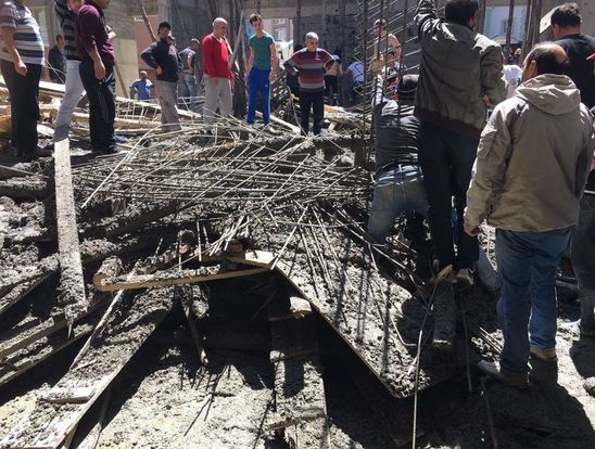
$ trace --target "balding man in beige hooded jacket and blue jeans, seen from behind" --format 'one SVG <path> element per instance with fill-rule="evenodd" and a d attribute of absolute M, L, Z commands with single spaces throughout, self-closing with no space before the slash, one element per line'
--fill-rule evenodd
<path fill-rule="evenodd" d="M 485 218 L 497 228 L 502 283 L 501 367 L 479 368 L 519 387 L 527 386 L 529 354 L 556 360 L 556 269 L 595 149 L 593 117 L 562 75 L 566 59 L 557 44 L 531 50 L 516 97 L 496 107 L 483 130 L 467 193 L 465 231 L 477 235 Z"/>

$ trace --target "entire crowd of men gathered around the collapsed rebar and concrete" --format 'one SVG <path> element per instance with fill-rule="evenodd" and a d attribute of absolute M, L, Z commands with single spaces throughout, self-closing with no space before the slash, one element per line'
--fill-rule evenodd
<path fill-rule="evenodd" d="M 55 0 L 62 26 L 52 48 L 50 76 L 65 82 L 55 139 L 67 137 L 73 111 L 84 91 L 90 110 L 93 151 L 116 153 L 114 138 L 114 33 L 105 23 L 110 0 Z M 419 76 L 401 76 L 401 43 L 385 21 L 374 26 L 376 79 L 372 99 L 376 189 L 368 233 L 383 244 L 396 217 L 405 213 L 414 246 L 433 257 L 432 282 L 450 285 L 483 281 L 488 259 L 478 233 L 484 221 L 496 228 L 499 288 L 497 316 L 504 333 L 499 364 L 480 369 L 508 384 L 528 384 L 528 361 L 556 360 L 556 270 L 571 246 L 581 291 L 581 336 L 595 336 L 595 39 L 581 33 L 575 3 L 550 16 L 555 41 L 539 43 L 511 63 L 501 46 L 477 33 L 477 0 L 447 0 L 440 18 L 432 0 L 418 0 L 415 21 L 421 44 Z M 246 63 L 248 125 L 270 127 L 270 86 L 279 59 L 259 14 L 250 16 L 254 34 Z M 45 65 L 39 26 L 23 0 L 0 8 L 0 68 L 12 106 L 12 145 L 24 159 L 35 157 L 39 118 L 38 86 Z M 232 112 L 235 75 L 227 22 L 213 21 L 202 40 L 178 52 L 172 26 L 162 22 L 157 39 L 141 53 L 155 70 L 130 85 L 139 100 L 156 98 L 163 128 L 180 129 L 178 95 L 195 110 L 204 89 L 204 121 Z M 337 104 L 339 80 L 349 74 L 352 100 L 365 80 L 364 64 L 343 72 L 340 51 L 319 48 L 311 31 L 283 62 L 287 84 L 299 97 L 302 133 L 319 134 L 325 102 Z M 518 66 L 521 64 L 522 66 Z M 395 94 L 384 94 L 389 81 Z M 591 110 L 591 112 L 590 112 Z M 427 219 L 431 243 L 419 227 Z M 570 244 L 571 242 L 571 244 Z M 489 270 L 488 270 L 489 271 Z M 494 284 L 494 283 L 493 283 Z"/>

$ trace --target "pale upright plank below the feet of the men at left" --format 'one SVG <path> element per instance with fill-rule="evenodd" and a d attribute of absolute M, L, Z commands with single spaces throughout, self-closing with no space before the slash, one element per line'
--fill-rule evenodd
<path fill-rule="evenodd" d="M 61 300 L 66 305 L 66 319 L 72 323 L 76 317 L 85 312 L 88 304 L 76 224 L 71 146 L 67 139 L 54 143 L 54 171 Z"/>

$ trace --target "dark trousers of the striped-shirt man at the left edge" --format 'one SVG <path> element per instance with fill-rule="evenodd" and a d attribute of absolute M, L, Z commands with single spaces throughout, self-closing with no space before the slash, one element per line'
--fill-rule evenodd
<path fill-rule="evenodd" d="M 11 97 L 12 146 L 20 155 L 33 153 L 37 147 L 41 65 L 27 64 L 25 76 L 18 75 L 14 64 L 8 61 L 0 62 L 0 69 Z"/>

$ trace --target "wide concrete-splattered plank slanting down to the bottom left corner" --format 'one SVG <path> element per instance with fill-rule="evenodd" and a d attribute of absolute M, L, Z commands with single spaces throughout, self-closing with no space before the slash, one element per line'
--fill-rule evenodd
<path fill-rule="evenodd" d="M 28 421 L 0 440 L 0 447 L 58 448 L 172 310 L 178 295 L 173 287 L 154 288 L 121 303 L 121 312 L 111 315 L 90 349 L 51 390 L 84 385 L 93 388 L 93 396 L 84 403 L 39 401 Z"/>

